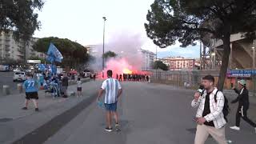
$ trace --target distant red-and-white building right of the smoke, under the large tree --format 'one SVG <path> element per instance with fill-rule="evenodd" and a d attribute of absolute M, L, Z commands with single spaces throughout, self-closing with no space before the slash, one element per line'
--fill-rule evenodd
<path fill-rule="evenodd" d="M 198 63 L 194 58 L 165 57 L 159 60 L 165 63 L 169 70 L 194 70 L 197 65 L 200 65 L 200 61 Z"/>

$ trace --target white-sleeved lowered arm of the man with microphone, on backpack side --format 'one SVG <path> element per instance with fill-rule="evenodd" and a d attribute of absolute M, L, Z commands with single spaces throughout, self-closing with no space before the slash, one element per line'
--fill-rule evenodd
<path fill-rule="evenodd" d="M 217 97 L 216 109 L 214 109 L 214 111 L 211 112 L 210 114 L 207 114 L 206 116 L 204 116 L 207 122 L 213 121 L 214 118 L 217 118 L 218 115 L 222 113 L 224 103 L 225 103 L 224 95 L 222 94 L 221 91 L 219 91 L 216 97 Z"/>

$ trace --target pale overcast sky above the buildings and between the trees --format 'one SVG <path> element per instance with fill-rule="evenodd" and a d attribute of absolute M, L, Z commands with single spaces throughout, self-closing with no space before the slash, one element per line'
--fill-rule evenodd
<path fill-rule="evenodd" d="M 69 38 L 83 46 L 102 44 L 103 19 L 106 17 L 106 43 L 122 35 L 139 35 L 142 49 L 155 52 L 156 46 L 147 38 L 144 23 L 154 0 L 45 0 L 38 11 L 41 29 L 34 37 Z M 158 58 L 182 56 L 199 58 L 199 46 L 158 48 Z"/>

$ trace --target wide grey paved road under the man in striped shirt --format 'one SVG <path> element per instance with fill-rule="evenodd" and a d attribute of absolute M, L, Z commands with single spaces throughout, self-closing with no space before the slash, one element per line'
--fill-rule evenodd
<path fill-rule="evenodd" d="M 122 132 L 107 133 L 104 111 L 95 103 L 63 126 L 45 144 L 188 144 L 194 142 L 196 110 L 190 107 L 193 91 L 176 90 L 171 86 L 142 82 L 122 82 L 124 94 L 118 102 Z M 235 106 L 232 105 L 234 110 Z M 249 115 L 255 115 L 251 106 Z M 256 122 L 256 118 L 254 122 Z M 234 112 L 230 114 L 234 124 Z M 226 137 L 235 144 L 256 141 L 254 130 L 242 122 L 240 132 L 226 128 Z M 206 144 L 214 144 L 209 138 Z"/>

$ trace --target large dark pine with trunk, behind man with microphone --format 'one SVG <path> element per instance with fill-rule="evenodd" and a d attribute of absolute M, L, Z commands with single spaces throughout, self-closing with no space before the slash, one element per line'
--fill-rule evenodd
<path fill-rule="evenodd" d="M 177 40 L 183 47 L 195 45 L 203 36 L 223 42 L 218 89 L 222 90 L 230 56 L 230 34 L 246 32 L 254 38 L 256 30 L 254 0 L 155 0 L 146 16 L 146 33 L 162 48 Z"/>

